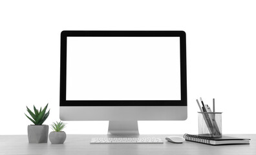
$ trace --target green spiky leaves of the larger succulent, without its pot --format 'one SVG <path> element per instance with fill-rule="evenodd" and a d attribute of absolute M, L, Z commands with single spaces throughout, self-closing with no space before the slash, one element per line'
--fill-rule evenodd
<path fill-rule="evenodd" d="M 42 125 L 43 122 L 48 118 L 49 114 L 50 114 L 50 109 L 48 110 L 48 112 L 46 112 L 48 107 L 48 103 L 45 106 L 45 108 L 40 108 L 40 110 L 38 111 L 37 108 L 34 106 L 34 112 L 32 112 L 28 107 L 27 107 L 27 111 L 30 114 L 30 117 L 27 116 L 27 114 L 25 114 L 27 116 L 27 118 L 32 121 L 35 125 Z M 46 112 L 46 113 L 45 113 Z"/>

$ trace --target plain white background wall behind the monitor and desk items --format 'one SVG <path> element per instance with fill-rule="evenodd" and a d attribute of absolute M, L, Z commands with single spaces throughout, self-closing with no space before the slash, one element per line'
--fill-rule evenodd
<path fill-rule="evenodd" d="M 26 105 L 59 119 L 62 30 L 184 30 L 186 121 L 140 121 L 141 134 L 196 134 L 197 103 L 216 98 L 224 134 L 256 132 L 255 1 L 1 1 L 0 134 L 27 134 Z M 67 122 L 67 134 L 106 134 L 107 121 Z"/>

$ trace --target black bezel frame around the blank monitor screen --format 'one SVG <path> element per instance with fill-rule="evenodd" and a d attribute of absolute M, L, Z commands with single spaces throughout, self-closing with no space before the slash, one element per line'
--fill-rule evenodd
<path fill-rule="evenodd" d="M 67 37 L 180 37 L 181 100 L 66 100 Z M 59 106 L 187 106 L 186 32 L 184 31 L 76 31 L 61 32 Z"/>

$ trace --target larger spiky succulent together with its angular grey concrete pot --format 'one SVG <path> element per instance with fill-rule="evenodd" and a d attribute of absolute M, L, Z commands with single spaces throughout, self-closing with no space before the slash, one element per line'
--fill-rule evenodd
<path fill-rule="evenodd" d="M 40 108 L 38 111 L 34 106 L 34 112 L 27 107 L 27 111 L 32 118 L 28 117 L 27 114 L 25 115 L 34 123 L 34 125 L 28 125 L 28 143 L 47 143 L 49 127 L 48 125 L 42 125 L 50 114 L 50 110 L 46 112 L 47 107 L 48 103 L 43 110 Z"/>

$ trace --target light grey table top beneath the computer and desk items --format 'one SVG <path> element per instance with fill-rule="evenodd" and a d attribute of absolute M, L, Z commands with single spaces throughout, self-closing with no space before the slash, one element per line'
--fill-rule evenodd
<path fill-rule="evenodd" d="M 68 134 L 64 144 L 28 143 L 27 135 L 0 136 L 0 154 L 256 154 L 256 134 L 233 134 L 237 138 L 250 138 L 250 145 L 220 145 L 185 141 L 175 144 L 165 141 L 170 135 L 140 135 L 164 140 L 164 144 L 90 144 L 91 138 L 107 135 Z M 172 135 L 182 136 L 182 135 Z"/>

